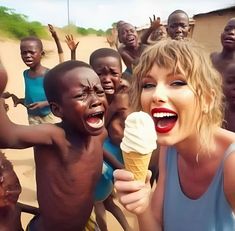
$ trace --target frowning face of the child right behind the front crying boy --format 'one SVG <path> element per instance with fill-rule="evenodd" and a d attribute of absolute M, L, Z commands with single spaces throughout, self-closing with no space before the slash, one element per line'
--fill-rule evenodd
<path fill-rule="evenodd" d="M 94 60 L 93 69 L 100 77 L 105 94 L 114 95 L 121 78 L 121 63 L 116 57 L 101 57 Z"/>

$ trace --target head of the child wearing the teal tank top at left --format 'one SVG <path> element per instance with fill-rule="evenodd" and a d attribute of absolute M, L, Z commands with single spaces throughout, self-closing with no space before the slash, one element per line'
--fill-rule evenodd
<path fill-rule="evenodd" d="M 34 68 L 41 63 L 41 58 L 45 54 L 42 41 L 34 36 L 21 39 L 20 53 L 23 62 L 28 67 Z"/>

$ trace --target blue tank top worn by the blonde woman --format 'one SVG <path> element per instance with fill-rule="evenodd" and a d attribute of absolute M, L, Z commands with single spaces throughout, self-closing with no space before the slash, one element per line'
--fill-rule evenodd
<path fill-rule="evenodd" d="M 224 159 L 235 150 L 231 144 Z M 223 190 L 223 163 L 210 183 L 207 191 L 192 200 L 181 190 L 177 169 L 177 153 L 171 147 L 166 157 L 166 183 L 163 207 L 164 231 L 232 231 L 235 217 Z"/>

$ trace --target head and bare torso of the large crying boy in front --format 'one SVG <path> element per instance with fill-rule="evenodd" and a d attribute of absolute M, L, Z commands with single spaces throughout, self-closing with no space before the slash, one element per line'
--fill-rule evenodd
<path fill-rule="evenodd" d="M 39 219 L 32 230 L 84 230 L 101 176 L 104 114 L 107 101 L 100 79 L 90 66 L 67 61 L 51 69 L 44 80 L 53 114 L 71 143 L 64 161 L 51 146 L 35 147 Z M 95 228 L 93 229 L 95 230 Z"/>

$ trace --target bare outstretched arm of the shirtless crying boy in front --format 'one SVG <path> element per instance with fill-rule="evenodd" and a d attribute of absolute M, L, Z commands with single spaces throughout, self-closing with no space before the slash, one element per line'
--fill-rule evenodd
<path fill-rule="evenodd" d="M 62 155 L 66 155 L 69 142 L 64 131 L 53 124 L 18 125 L 7 116 L 3 100 L 0 99 L 0 148 L 22 149 L 34 145 L 55 144 Z"/>

